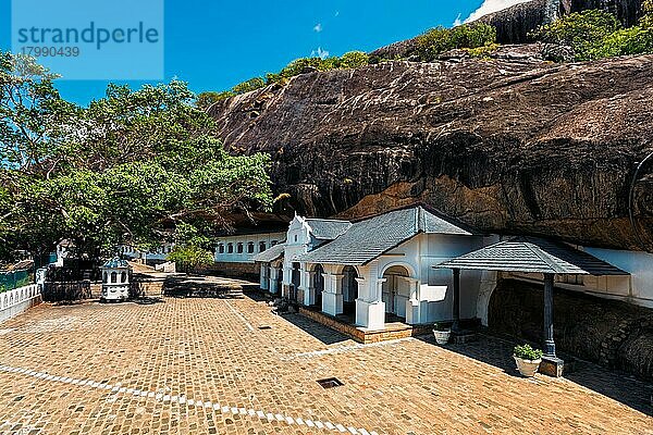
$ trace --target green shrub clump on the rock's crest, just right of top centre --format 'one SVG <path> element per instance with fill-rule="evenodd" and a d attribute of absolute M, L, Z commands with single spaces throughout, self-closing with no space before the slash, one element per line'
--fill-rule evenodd
<path fill-rule="evenodd" d="M 454 28 L 435 27 L 417 37 L 417 55 L 430 62 L 439 54 L 456 49 L 476 49 L 496 42 L 496 28 L 489 24 L 466 24 Z"/>

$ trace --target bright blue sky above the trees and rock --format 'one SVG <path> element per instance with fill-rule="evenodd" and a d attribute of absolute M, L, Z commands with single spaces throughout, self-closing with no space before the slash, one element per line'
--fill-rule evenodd
<path fill-rule="evenodd" d="M 26 0 L 13 1 L 24 5 Z M 57 14 L 74 16 L 73 11 L 78 11 L 78 8 L 65 4 L 74 0 L 29 1 L 47 3 L 50 9 L 42 9 L 45 12 L 41 14 L 46 17 Z M 107 8 L 114 8 L 113 12 L 125 20 L 139 20 L 143 11 L 121 7 L 116 1 L 86 0 L 84 4 L 95 9 L 91 11 L 94 16 L 110 15 Z M 139 1 L 143 0 L 132 0 L 133 3 Z M 152 1 L 164 1 L 160 35 L 161 77 L 153 80 L 104 79 L 116 73 L 98 64 L 96 66 L 107 72 L 109 77 L 79 80 L 65 79 L 64 75 L 57 82 L 64 98 L 87 104 L 104 95 L 109 82 L 126 83 L 138 88 L 144 83 L 169 82 L 172 78 L 187 82 L 196 92 L 225 90 L 250 77 L 276 72 L 297 58 L 341 55 L 352 50 L 371 51 L 414 37 L 428 28 L 438 25 L 451 27 L 470 16 L 480 16 L 525 0 Z M 17 9 L 14 7 L 14 12 Z M 41 11 L 41 8 L 32 5 L 26 10 Z M 12 29 L 11 18 L 12 0 L 0 0 L 2 50 L 11 50 L 12 36 L 15 37 L 16 29 Z M 131 71 L 131 65 L 138 64 L 138 60 L 143 61 L 140 54 L 130 55 L 133 58 L 115 58 L 112 66 L 126 72 Z"/>

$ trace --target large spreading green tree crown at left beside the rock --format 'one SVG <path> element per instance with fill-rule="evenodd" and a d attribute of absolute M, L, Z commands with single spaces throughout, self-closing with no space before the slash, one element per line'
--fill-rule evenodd
<path fill-rule="evenodd" d="M 230 211 L 271 203 L 269 157 L 226 153 L 186 84 L 110 85 L 81 108 L 33 60 L 2 59 L 0 257 L 63 238 L 93 257 L 183 243 L 174 228 L 210 233 Z"/>

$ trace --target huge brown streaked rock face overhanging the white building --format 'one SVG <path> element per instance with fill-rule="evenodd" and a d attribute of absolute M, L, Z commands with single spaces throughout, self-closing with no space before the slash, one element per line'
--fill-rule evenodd
<path fill-rule="evenodd" d="M 310 216 L 416 202 L 492 233 L 653 249 L 653 55 L 552 64 L 385 62 L 310 73 L 213 105 L 234 153 L 268 152 Z M 292 213 L 292 212 L 291 212 Z"/>

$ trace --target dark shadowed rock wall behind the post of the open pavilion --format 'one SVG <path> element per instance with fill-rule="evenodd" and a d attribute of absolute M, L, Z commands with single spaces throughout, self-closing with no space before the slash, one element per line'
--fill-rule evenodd
<path fill-rule="evenodd" d="M 503 279 L 492 294 L 489 326 L 541 343 L 542 286 Z M 586 294 L 554 291 L 558 351 L 653 380 L 653 310 Z"/>

